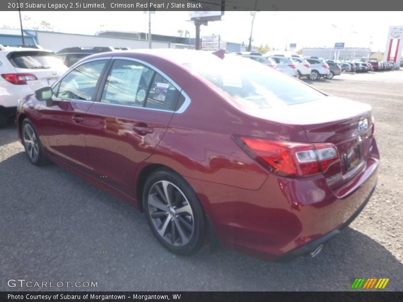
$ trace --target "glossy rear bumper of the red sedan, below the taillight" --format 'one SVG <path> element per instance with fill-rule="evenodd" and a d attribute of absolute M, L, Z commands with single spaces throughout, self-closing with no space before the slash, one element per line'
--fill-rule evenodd
<path fill-rule="evenodd" d="M 376 146 L 376 144 L 375 144 Z M 377 181 L 377 148 L 353 180 L 332 191 L 323 177 L 270 175 L 258 190 L 187 179 L 222 246 L 264 260 L 304 255 L 346 228 Z"/>

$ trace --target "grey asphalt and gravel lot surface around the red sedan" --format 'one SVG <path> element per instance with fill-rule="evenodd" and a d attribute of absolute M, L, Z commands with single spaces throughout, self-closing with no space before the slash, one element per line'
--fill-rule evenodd
<path fill-rule="evenodd" d="M 174 256 L 135 208 L 56 165 L 32 166 L 10 123 L 0 130 L 0 290 L 20 290 L 7 285 L 18 278 L 93 281 L 95 290 L 347 290 L 373 277 L 401 290 L 403 71 L 306 82 L 372 105 L 381 154 L 370 202 L 316 258 L 270 263 L 222 249 Z"/>

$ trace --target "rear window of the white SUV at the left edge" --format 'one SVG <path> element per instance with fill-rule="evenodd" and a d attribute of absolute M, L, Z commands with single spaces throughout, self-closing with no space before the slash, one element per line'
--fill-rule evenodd
<path fill-rule="evenodd" d="M 63 63 L 52 53 L 46 51 L 19 51 L 9 56 L 11 64 L 16 68 L 48 69 L 64 67 Z"/>

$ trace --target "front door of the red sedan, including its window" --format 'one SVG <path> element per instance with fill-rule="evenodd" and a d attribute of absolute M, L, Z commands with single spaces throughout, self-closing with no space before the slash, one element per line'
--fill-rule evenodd
<path fill-rule="evenodd" d="M 110 59 L 95 59 L 66 74 L 51 101 L 40 106 L 41 140 L 52 155 L 80 170 L 88 170 L 84 131 L 91 122 L 87 110 L 95 100 L 100 75 Z"/>

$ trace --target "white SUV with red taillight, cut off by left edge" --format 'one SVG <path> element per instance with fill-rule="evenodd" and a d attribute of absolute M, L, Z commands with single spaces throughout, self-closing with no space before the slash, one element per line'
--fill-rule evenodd
<path fill-rule="evenodd" d="M 17 102 L 50 86 L 68 68 L 49 50 L 0 45 L 0 127 L 17 112 Z"/>

